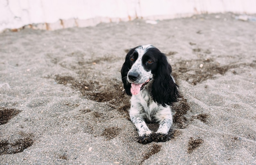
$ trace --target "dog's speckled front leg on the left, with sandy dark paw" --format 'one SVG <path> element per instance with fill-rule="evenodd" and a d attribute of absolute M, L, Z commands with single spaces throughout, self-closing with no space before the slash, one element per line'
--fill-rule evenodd
<path fill-rule="evenodd" d="M 148 129 L 148 126 L 146 125 L 144 119 L 142 118 L 140 110 L 137 108 L 133 108 L 133 106 L 131 106 L 129 114 L 132 123 L 136 126 L 138 130 L 138 142 L 143 144 L 152 142 L 152 132 L 150 131 L 150 129 Z"/>

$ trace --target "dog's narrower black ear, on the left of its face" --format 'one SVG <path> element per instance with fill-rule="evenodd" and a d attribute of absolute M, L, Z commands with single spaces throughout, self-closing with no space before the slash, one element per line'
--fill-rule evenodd
<path fill-rule="evenodd" d="M 132 96 L 132 94 L 131 94 L 131 83 L 129 83 L 127 81 L 127 74 L 128 74 L 128 71 L 132 67 L 131 64 L 130 64 L 130 55 L 134 52 L 134 50 L 135 50 L 135 48 L 130 49 L 130 51 L 126 55 L 125 62 L 124 62 L 123 67 L 121 69 L 121 76 L 122 76 L 122 81 L 123 81 L 123 84 L 124 84 L 124 89 L 126 91 L 126 94 L 128 94 L 130 96 Z"/>

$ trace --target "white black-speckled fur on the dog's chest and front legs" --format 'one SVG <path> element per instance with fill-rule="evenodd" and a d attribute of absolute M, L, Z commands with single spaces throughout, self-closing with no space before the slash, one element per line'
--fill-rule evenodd
<path fill-rule="evenodd" d="M 155 133 L 165 135 L 168 134 L 168 131 L 173 124 L 171 107 L 163 107 L 162 105 L 157 105 L 157 103 L 153 101 L 149 91 L 151 85 L 152 81 L 150 81 L 150 83 L 148 83 L 148 85 L 146 85 L 146 87 L 141 90 L 139 94 L 132 95 L 132 98 L 130 99 L 130 119 L 136 126 L 139 136 L 152 134 L 144 119 L 147 119 L 152 123 L 159 123 L 159 128 Z"/>

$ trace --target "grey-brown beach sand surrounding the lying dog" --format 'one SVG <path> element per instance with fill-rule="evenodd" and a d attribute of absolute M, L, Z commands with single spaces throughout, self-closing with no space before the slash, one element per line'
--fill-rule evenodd
<path fill-rule="evenodd" d="M 120 70 L 146 44 L 167 55 L 183 98 L 171 140 L 144 145 Z M 1 33 L 0 164 L 256 164 L 256 22 L 227 13 Z"/>

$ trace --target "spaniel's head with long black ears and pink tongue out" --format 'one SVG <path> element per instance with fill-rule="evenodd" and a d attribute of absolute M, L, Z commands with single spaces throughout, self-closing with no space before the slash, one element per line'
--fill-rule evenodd
<path fill-rule="evenodd" d="M 151 95 L 163 106 L 171 105 L 180 96 L 171 72 L 166 56 L 153 45 L 130 49 L 121 69 L 126 94 L 137 95 L 153 81 Z"/>

